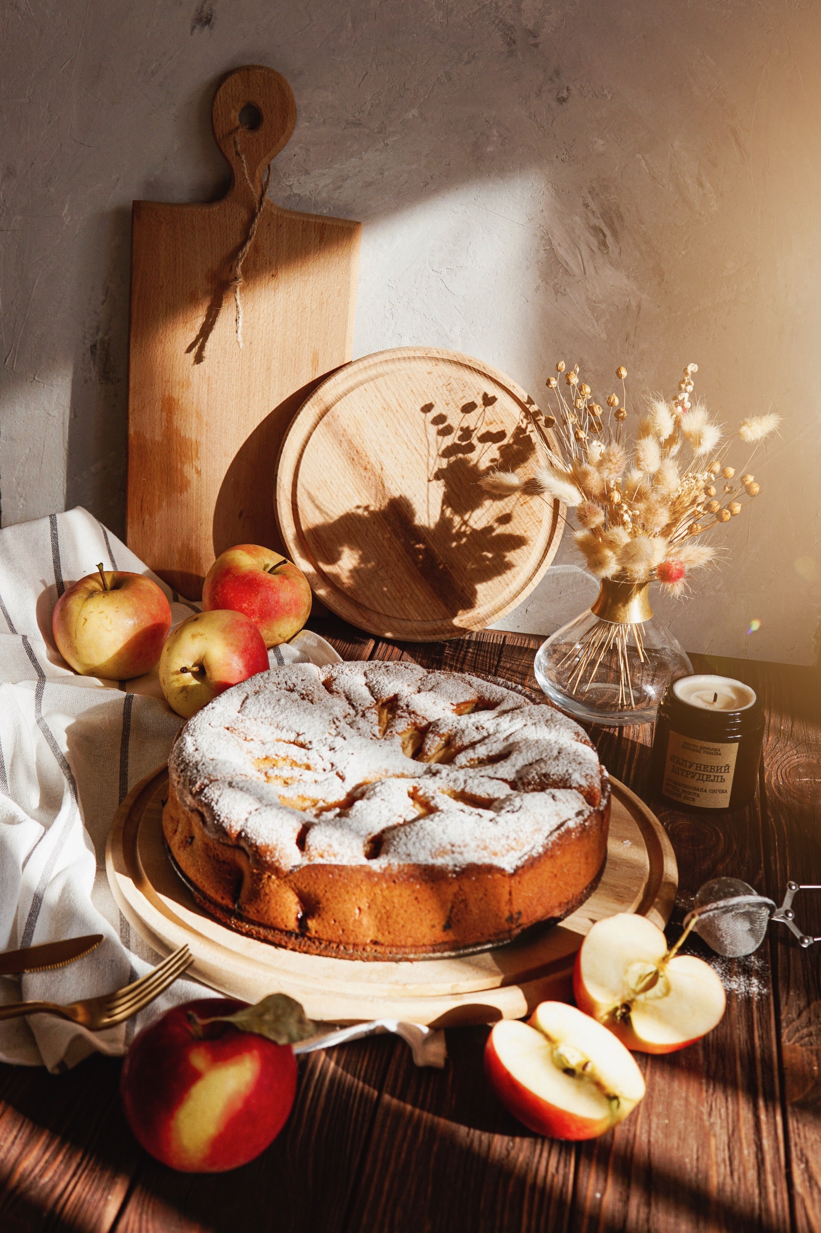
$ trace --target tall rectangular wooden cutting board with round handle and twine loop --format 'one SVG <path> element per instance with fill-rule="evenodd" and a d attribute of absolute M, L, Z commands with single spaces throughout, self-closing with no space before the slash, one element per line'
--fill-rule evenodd
<path fill-rule="evenodd" d="M 283 210 L 266 192 L 295 116 L 284 78 L 238 69 L 213 105 L 226 196 L 134 202 L 127 538 L 190 599 L 226 547 L 281 546 L 279 443 L 352 355 L 361 223 Z"/>

